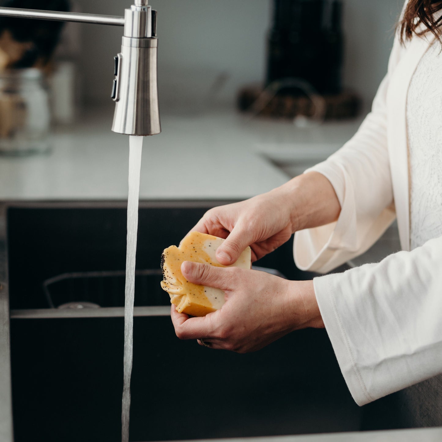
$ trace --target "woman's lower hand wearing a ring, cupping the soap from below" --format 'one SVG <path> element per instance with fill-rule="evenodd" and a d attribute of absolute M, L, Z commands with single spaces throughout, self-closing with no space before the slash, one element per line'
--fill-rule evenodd
<path fill-rule="evenodd" d="M 290 331 L 324 327 L 312 281 L 287 281 L 260 271 L 184 262 L 188 281 L 224 290 L 220 310 L 193 318 L 171 306 L 180 339 L 203 339 L 211 348 L 247 353 Z"/>

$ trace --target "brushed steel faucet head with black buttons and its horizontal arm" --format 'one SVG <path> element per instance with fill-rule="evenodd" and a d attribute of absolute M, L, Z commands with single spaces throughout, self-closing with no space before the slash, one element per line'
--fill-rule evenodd
<path fill-rule="evenodd" d="M 148 0 L 134 1 L 124 17 L 21 8 L 0 8 L 0 15 L 124 26 L 121 52 L 114 57 L 112 130 L 126 135 L 155 135 L 161 132 L 156 11 L 148 5 Z"/>

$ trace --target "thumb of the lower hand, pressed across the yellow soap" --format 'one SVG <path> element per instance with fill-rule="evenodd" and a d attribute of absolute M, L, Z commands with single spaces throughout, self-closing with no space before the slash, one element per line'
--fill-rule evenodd
<path fill-rule="evenodd" d="M 181 273 L 187 281 L 221 290 L 231 290 L 231 270 L 192 261 L 184 261 L 181 264 Z"/>

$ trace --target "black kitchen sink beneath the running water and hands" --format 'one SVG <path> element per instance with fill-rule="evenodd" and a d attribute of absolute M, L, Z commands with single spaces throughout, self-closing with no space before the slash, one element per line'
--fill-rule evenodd
<path fill-rule="evenodd" d="M 130 439 L 360 430 L 324 330 L 251 354 L 176 338 L 161 252 L 222 203 L 140 203 Z M 12 410 L 15 442 L 121 440 L 126 204 L 7 203 L 0 218 L 0 439 L 12 440 Z M 311 277 L 291 241 L 257 264 Z"/>

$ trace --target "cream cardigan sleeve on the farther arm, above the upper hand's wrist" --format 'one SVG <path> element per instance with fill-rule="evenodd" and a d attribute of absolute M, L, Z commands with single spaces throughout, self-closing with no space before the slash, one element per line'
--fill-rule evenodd
<path fill-rule="evenodd" d="M 386 95 L 402 51 L 396 38 L 389 72 L 358 132 L 328 160 L 308 170 L 320 172 L 330 181 L 341 212 L 335 223 L 296 232 L 293 252 L 301 270 L 327 273 L 361 255 L 396 216 L 387 148 Z"/>

